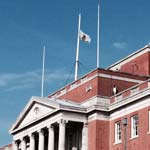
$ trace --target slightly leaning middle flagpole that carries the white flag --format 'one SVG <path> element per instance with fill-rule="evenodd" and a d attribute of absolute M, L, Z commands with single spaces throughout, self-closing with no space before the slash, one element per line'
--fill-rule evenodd
<path fill-rule="evenodd" d="M 79 40 L 80 24 L 81 24 L 81 14 L 79 14 L 79 22 L 78 22 L 77 50 L 76 50 L 76 62 L 75 62 L 75 76 L 74 76 L 74 80 L 75 81 L 78 79 L 79 45 L 80 45 L 80 40 Z"/>

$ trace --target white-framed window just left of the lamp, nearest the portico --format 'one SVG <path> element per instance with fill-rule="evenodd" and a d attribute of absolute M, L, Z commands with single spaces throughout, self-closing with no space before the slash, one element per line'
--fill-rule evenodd
<path fill-rule="evenodd" d="M 115 143 L 121 142 L 121 121 L 115 123 Z"/>

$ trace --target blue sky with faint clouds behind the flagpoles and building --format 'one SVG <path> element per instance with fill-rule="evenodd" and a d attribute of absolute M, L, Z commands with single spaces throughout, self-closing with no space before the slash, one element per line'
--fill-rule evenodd
<path fill-rule="evenodd" d="M 80 42 L 80 75 L 96 68 L 98 0 L 0 1 L 0 146 L 31 96 L 40 96 L 46 45 L 44 95 L 73 80 L 78 15 L 92 39 Z M 150 42 L 149 0 L 101 0 L 100 67 L 106 68 Z"/>

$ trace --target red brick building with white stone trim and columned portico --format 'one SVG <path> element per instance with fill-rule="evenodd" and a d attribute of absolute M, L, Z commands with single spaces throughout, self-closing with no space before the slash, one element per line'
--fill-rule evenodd
<path fill-rule="evenodd" d="M 10 129 L 14 150 L 150 150 L 150 46 L 32 97 Z"/>

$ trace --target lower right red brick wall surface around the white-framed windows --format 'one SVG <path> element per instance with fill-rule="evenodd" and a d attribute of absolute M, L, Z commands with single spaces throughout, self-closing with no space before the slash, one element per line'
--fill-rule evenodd
<path fill-rule="evenodd" d="M 123 118 L 128 119 L 127 125 L 127 150 L 150 150 L 150 134 L 148 133 L 148 111 L 150 107 L 140 109 L 126 116 L 122 116 L 110 122 L 110 150 L 124 150 L 124 126 L 122 125 L 122 142 L 115 144 L 115 122 L 122 121 Z M 138 115 L 139 117 L 139 136 L 136 138 L 131 138 L 131 117 L 133 115 Z"/>

